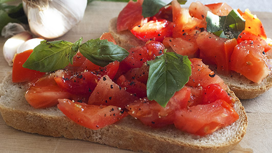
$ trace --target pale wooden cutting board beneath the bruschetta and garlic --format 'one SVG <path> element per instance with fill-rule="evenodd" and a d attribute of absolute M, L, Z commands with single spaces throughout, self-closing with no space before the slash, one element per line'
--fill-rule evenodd
<path fill-rule="evenodd" d="M 108 32 L 109 20 L 118 16 L 125 3 L 92 2 L 87 6 L 84 19 L 71 31 L 59 39 L 74 42 L 80 37 L 84 41 L 99 38 Z M 267 37 L 272 37 L 272 13 L 255 13 L 263 22 Z M 3 58 L 2 46 L 7 39 L 0 38 L 0 79 L 12 68 Z M 272 90 L 263 95 L 242 100 L 248 116 L 247 133 L 239 145 L 232 150 L 237 152 L 270 152 L 272 150 Z M 53 138 L 29 134 L 7 126 L 0 116 L 0 152 L 133 152 L 90 143 L 81 140 Z"/>

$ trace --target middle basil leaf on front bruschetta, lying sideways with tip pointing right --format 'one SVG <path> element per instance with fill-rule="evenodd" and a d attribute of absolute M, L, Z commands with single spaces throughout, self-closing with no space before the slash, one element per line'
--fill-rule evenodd
<path fill-rule="evenodd" d="M 122 61 L 128 56 L 126 49 L 107 40 L 91 39 L 80 46 L 80 53 L 99 66 L 106 66 L 110 62 Z"/>

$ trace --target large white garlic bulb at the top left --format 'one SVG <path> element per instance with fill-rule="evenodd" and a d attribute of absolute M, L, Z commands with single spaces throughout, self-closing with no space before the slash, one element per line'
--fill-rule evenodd
<path fill-rule="evenodd" d="M 67 33 L 82 20 L 87 0 L 23 0 L 31 32 L 46 39 Z"/>

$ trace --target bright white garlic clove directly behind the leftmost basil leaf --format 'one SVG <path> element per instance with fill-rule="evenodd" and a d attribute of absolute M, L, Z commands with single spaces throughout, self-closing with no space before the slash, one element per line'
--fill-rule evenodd
<path fill-rule="evenodd" d="M 17 48 L 17 54 L 25 52 L 26 50 L 33 49 L 43 41 L 43 38 L 33 38 L 25 41 Z"/>

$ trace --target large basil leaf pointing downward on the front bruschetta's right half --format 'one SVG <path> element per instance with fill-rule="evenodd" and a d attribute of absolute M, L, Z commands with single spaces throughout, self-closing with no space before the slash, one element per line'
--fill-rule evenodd
<path fill-rule="evenodd" d="M 165 107 L 174 93 L 188 82 L 191 62 L 187 56 L 167 52 L 147 63 L 150 65 L 147 97 Z"/>

